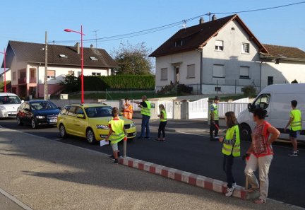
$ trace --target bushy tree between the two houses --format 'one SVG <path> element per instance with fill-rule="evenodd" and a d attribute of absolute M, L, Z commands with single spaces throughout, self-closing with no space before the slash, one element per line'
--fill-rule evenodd
<path fill-rule="evenodd" d="M 128 42 L 112 51 L 112 56 L 119 68 L 114 69 L 116 74 L 152 74 L 152 59 L 148 57 L 150 49 L 144 42 L 131 45 Z"/>

